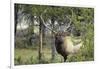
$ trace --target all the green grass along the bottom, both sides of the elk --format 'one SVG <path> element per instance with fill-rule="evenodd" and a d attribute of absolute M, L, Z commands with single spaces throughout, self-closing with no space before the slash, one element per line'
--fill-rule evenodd
<path fill-rule="evenodd" d="M 38 60 L 38 49 L 15 49 L 15 65 L 29 65 L 29 64 L 48 64 L 48 63 L 61 63 L 63 57 L 56 54 L 55 60 L 51 60 L 51 49 L 43 48 L 42 61 Z M 93 61 L 93 57 L 87 57 L 81 52 L 75 55 L 69 55 L 67 62 L 80 62 L 80 61 Z"/>

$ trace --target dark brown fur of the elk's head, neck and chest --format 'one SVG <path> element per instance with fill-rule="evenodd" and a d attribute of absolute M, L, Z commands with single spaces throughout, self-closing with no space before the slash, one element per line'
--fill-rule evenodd
<path fill-rule="evenodd" d="M 55 35 L 55 47 L 56 47 L 56 50 L 59 54 L 61 54 L 64 58 L 64 62 L 66 61 L 67 59 L 67 56 L 68 56 L 68 53 L 66 52 L 66 47 L 67 46 L 64 46 L 64 38 L 66 37 L 67 33 L 57 33 Z"/>

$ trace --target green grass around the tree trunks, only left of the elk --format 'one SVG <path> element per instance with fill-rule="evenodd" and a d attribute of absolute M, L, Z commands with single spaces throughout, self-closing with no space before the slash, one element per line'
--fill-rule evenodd
<path fill-rule="evenodd" d="M 61 56 L 56 54 L 54 61 L 51 61 L 51 50 L 49 48 L 43 48 L 43 57 L 41 63 L 58 63 L 62 62 Z M 38 61 L 38 49 L 15 49 L 15 65 L 24 65 L 24 64 L 40 64 Z"/>

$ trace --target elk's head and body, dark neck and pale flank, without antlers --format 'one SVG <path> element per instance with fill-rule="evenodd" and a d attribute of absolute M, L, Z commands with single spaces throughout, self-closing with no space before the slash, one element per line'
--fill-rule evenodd
<path fill-rule="evenodd" d="M 66 33 L 57 33 L 55 35 L 55 47 L 58 54 L 63 56 L 64 62 L 69 54 L 77 53 L 82 46 L 82 43 L 74 46 L 71 37 L 67 35 Z"/>

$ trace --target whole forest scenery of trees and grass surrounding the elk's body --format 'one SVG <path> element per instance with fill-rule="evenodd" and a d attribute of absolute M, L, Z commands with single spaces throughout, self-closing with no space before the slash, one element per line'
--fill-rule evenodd
<path fill-rule="evenodd" d="M 15 4 L 15 65 L 62 62 L 53 31 L 69 32 L 83 47 L 67 62 L 94 60 L 94 9 Z M 52 29 L 52 30 L 51 30 Z"/>

